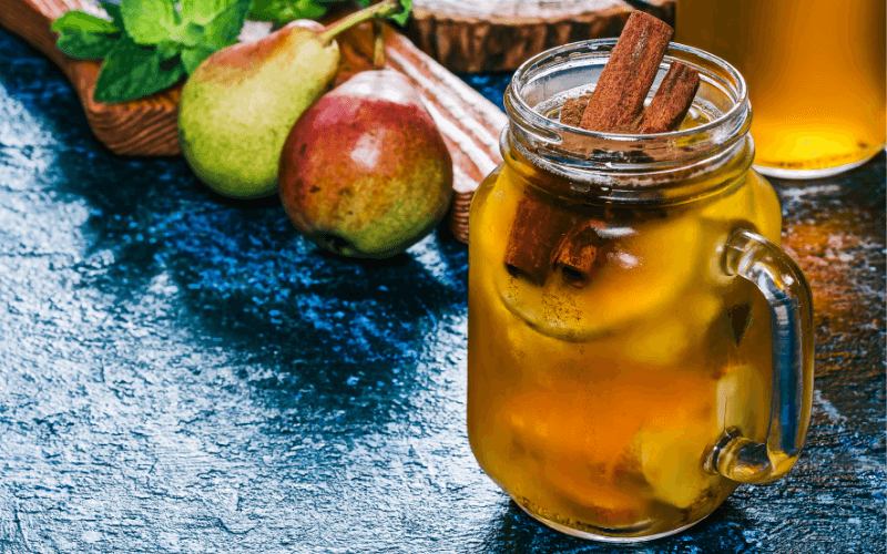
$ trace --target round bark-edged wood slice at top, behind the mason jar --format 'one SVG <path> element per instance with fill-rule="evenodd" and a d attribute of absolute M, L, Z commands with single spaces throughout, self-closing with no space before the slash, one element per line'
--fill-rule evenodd
<path fill-rule="evenodd" d="M 674 27 L 676 0 L 414 0 L 407 35 L 450 71 L 513 71 L 550 48 L 616 38 L 635 9 Z"/>

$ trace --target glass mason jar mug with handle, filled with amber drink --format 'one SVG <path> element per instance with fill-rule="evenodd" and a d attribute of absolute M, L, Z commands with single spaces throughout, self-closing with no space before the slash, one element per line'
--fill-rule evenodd
<path fill-rule="evenodd" d="M 813 321 L 777 246 L 778 199 L 751 168 L 730 64 L 670 47 L 654 90 L 674 60 L 701 74 L 671 133 L 554 121 L 614 44 L 543 52 L 506 92 L 504 163 L 470 213 L 468 435 L 533 517 L 633 542 L 791 469 L 810 417 Z"/>

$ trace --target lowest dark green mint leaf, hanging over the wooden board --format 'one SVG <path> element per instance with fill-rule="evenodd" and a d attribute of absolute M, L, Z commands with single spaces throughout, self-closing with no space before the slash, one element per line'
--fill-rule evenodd
<path fill-rule="evenodd" d="M 125 102 L 173 85 L 185 74 L 179 60 L 163 60 L 154 48 L 121 40 L 108 54 L 93 98 L 99 102 Z"/>

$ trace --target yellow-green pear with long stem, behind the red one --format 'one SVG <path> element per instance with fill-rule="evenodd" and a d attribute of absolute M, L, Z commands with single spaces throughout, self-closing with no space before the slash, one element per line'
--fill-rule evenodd
<path fill-rule="evenodd" d="M 397 10 L 397 2 L 385 1 L 329 28 L 293 21 L 206 58 L 185 82 L 179 104 L 179 142 L 197 177 L 233 198 L 275 194 L 289 129 L 336 78 L 335 37 Z"/>

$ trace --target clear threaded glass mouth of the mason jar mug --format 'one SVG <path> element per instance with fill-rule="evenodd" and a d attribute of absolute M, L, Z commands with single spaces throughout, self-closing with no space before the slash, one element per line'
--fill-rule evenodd
<path fill-rule="evenodd" d="M 702 50 L 672 43 L 660 63 L 648 94 L 652 99 L 674 61 L 700 73 L 693 109 L 705 121 L 690 129 L 653 134 L 588 131 L 547 116 L 563 100 L 590 94 L 615 47 L 616 39 L 574 42 L 527 60 L 513 74 L 504 94 L 509 126 L 503 132 L 503 156 L 517 150 L 533 165 L 572 182 L 574 192 L 591 186 L 650 189 L 679 184 L 687 175 L 707 173 L 743 158 L 751 166 L 748 136 L 752 110 L 742 74 L 726 61 Z M 747 170 L 747 167 L 746 167 Z"/>

